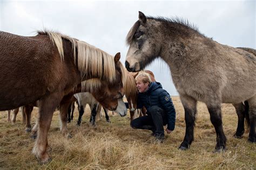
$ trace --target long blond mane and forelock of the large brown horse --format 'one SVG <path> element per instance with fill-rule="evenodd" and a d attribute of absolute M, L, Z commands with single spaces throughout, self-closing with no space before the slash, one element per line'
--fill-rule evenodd
<path fill-rule="evenodd" d="M 92 76 L 105 78 L 110 82 L 116 79 L 116 70 L 114 66 L 114 57 L 109 55 L 103 50 L 98 49 L 97 47 L 90 45 L 86 42 L 80 41 L 76 38 L 71 38 L 69 36 L 63 35 L 59 32 L 53 31 L 37 31 L 38 35 L 48 35 L 53 43 L 57 46 L 60 58 L 64 60 L 64 50 L 63 50 L 63 39 L 69 40 L 72 44 L 74 63 L 76 64 L 76 59 L 78 63 L 78 69 L 81 73 L 81 78 L 86 76 L 87 72 L 91 72 Z M 76 56 L 77 50 L 77 56 Z M 77 58 L 76 58 L 77 57 Z M 126 74 L 124 66 L 119 62 L 119 66 L 122 70 L 122 81 L 123 84 L 126 80 Z M 88 81 L 86 84 L 93 86 L 96 80 Z M 84 84 L 85 85 L 85 84 Z M 82 84 L 83 86 L 83 84 Z M 98 83 L 95 84 L 98 86 Z M 87 87 L 84 87 L 87 88 Z"/>

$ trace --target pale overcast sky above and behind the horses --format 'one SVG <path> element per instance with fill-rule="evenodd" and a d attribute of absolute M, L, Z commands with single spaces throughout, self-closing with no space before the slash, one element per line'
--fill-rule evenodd
<path fill-rule="evenodd" d="M 35 36 L 44 28 L 59 31 L 106 51 L 121 53 L 124 64 L 129 46 L 125 38 L 138 20 L 146 16 L 181 17 L 220 44 L 233 47 L 255 45 L 255 1 L 4 1 L 0 0 L 0 30 Z M 0 42 L 1 43 L 1 42 Z M 146 67 L 163 88 L 177 96 L 169 67 L 157 59 Z"/>

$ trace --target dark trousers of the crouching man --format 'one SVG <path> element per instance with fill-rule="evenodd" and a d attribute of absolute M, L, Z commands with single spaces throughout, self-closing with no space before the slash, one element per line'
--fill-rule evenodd
<path fill-rule="evenodd" d="M 158 106 L 150 108 L 150 115 L 136 118 L 131 121 L 132 128 L 151 130 L 159 136 L 164 136 L 164 126 L 167 124 L 167 114 Z"/>

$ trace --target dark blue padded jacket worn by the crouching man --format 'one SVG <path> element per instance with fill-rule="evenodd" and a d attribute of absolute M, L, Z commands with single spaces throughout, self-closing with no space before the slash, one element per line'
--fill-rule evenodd
<path fill-rule="evenodd" d="M 170 131 L 174 130 L 176 111 L 172 103 L 170 94 L 163 89 L 160 83 L 152 82 L 146 92 L 138 94 L 137 108 L 146 107 L 147 114 L 150 113 L 151 106 L 162 108 L 167 114 L 167 128 Z"/>

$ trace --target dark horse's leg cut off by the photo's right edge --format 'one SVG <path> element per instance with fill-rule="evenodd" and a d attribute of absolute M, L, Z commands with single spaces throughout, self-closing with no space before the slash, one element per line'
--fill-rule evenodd
<path fill-rule="evenodd" d="M 256 128 L 256 95 L 252 98 L 248 99 L 249 104 L 249 118 L 250 118 L 250 133 L 248 141 L 250 142 L 256 142 L 256 134 L 255 134 L 255 128 Z"/>

